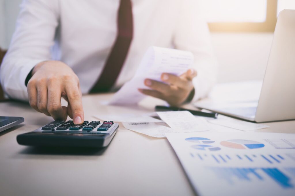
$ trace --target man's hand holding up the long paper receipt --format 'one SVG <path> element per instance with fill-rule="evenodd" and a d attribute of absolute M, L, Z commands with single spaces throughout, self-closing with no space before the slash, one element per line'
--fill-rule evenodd
<path fill-rule="evenodd" d="M 143 94 L 163 99 L 170 105 L 178 106 L 186 101 L 190 92 L 194 89 L 192 79 L 196 75 L 197 72 L 194 69 L 189 69 L 179 77 L 173 74 L 163 73 L 161 79 L 166 84 L 152 79 L 145 79 L 145 85 L 153 90 L 138 90 Z"/>

